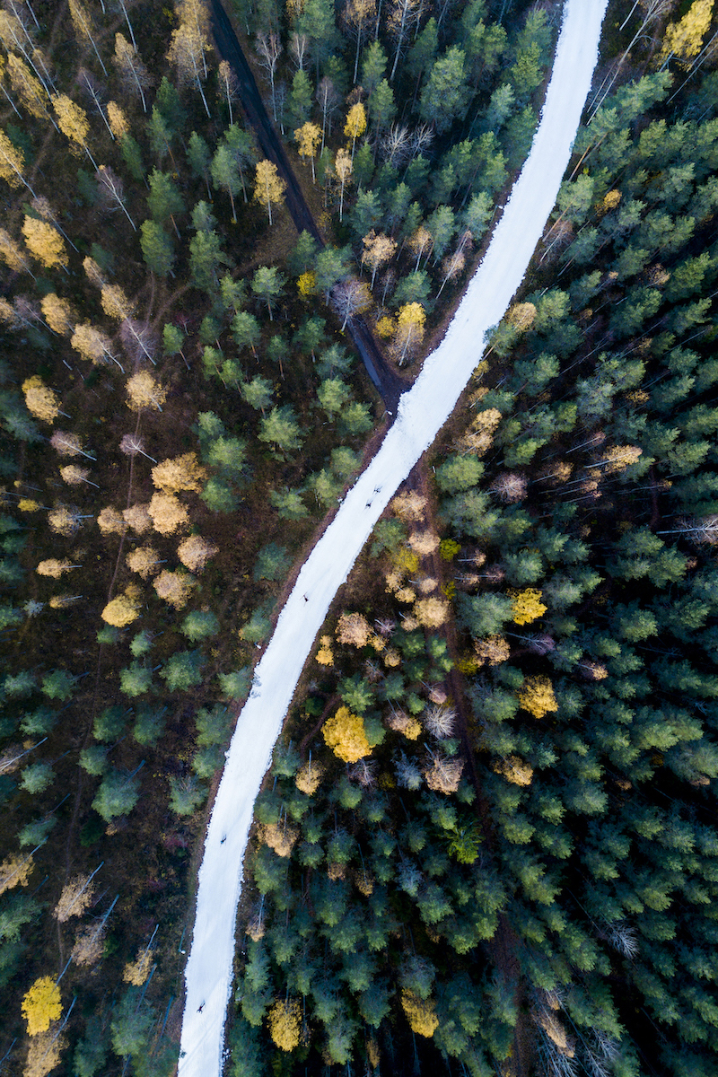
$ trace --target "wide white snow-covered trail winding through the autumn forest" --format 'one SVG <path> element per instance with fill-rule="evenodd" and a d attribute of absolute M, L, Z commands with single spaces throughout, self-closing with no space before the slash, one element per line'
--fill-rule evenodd
<path fill-rule="evenodd" d="M 446 337 L 402 396 L 380 450 L 305 562 L 237 721 L 199 869 L 179 1077 L 220 1077 L 235 920 L 254 801 L 294 688 L 337 589 L 397 487 L 453 411 L 555 202 L 599 53 L 608 0 L 566 0 L 531 153 Z"/>

